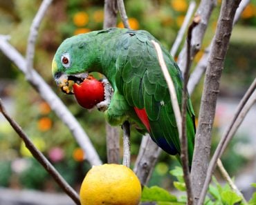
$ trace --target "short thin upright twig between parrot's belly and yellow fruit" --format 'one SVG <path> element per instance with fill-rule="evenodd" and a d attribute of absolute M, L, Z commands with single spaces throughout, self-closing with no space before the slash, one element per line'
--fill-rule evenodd
<path fill-rule="evenodd" d="M 125 121 L 122 124 L 123 134 L 123 149 L 124 155 L 122 159 L 122 164 L 130 167 L 131 166 L 131 142 L 130 142 L 130 124 L 128 121 Z"/>

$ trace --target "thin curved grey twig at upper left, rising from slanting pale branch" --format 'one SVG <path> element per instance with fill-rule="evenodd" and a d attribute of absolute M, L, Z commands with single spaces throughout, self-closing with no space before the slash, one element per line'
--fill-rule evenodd
<path fill-rule="evenodd" d="M 44 15 L 48 9 L 48 7 L 51 5 L 53 0 L 44 0 L 39 7 L 39 10 L 37 11 L 37 14 L 35 15 L 35 18 L 33 19 L 33 22 L 30 26 L 30 33 L 28 35 L 28 46 L 26 50 L 26 69 L 27 69 L 27 78 L 32 77 L 31 76 L 31 70 L 33 69 L 33 61 L 35 57 L 35 41 L 37 39 L 38 35 L 38 29 L 42 22 L 42 19 L 44 18 Z"/>

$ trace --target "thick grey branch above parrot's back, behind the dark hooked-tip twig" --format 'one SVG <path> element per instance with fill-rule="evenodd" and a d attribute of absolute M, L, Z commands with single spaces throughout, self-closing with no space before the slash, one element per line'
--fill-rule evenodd
<path fill-rule="evenodd" d="M 198 26 L 193 30 L 191 39 L 191 59 L 194 58 L 197 52 L 201 49 L 201 43 L 203 41 L 203 36 L 205 35 L 205 30 L 208 26 L 208 21 L 212 14 L 212 10 L 215 8 L 217 4 L 216 0 L 202 0 L 199 4 L 199 7 L 196 10 L 195 16 L 200 16 L 201 21 Z M 178 65 L 181 71 L 185 70 L 185 59 L 187 59 L 187 46 L 184 45 L 178 57 Z"/>

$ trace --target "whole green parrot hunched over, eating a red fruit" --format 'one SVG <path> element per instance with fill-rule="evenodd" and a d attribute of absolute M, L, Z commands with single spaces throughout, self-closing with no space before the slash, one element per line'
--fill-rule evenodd
<path fill-rule="evenodd" d="M 109 28 L 76 35 L 62 42 L 53 59 L 53 77 L 63 92 L 73 94 L 90 72 L 100 72 L 104 81 L 104 101 L 95 107 L 113 126 L 129 121 L 140 133 L 170 155 L 179 158 L 181 144 L 170 92 L 161 71 L 152 40 L 145 30 Z M 161 43 L 159 43 L 161 45 Z M 181 106 L 183 79 L 170 53 L 161 46 L 163 57 Z M 187 137 L 190 165 L 194 149 L 194 110 L 187 105 Z"/>

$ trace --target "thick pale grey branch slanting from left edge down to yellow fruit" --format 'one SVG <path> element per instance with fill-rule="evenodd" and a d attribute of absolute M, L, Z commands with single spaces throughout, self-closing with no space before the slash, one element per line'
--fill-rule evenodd
<path fill-rule="evenodd" d="M 0 35 L 0 50 L 6 57 L 8 57 L 14 64 L 27 75 L 26 72 L 26 60 L 21 54 L 6 41 L 6 37 L 1 37 Z M 100 157 L 96 152 L 95 148 L 91 144 L 89 137 L 84 132 L 83 128 L 78 123 L 77 119 L 71 114 L 71 112 L 66 108 L 59 97 L 53 92 L 53 90 L 46 84 L 44 79 L 33 69 L 31 70 L 31 78 L 28 82 L 39 92 L 39 95 L 51 106 L 51 109 L 56 113 L 58 117 L 66 124 L 73 137 L 77 141 L 77 144 L 86 153 L 86 159 L 91 165 L 102 164 Z"/>

